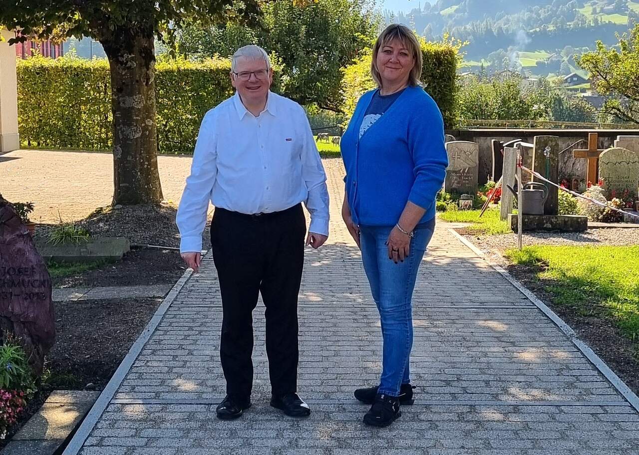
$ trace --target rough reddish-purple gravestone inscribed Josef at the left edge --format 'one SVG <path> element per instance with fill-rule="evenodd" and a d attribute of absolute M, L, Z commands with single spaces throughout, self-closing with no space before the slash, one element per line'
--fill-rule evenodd
<path fill-rule="evenodd" d="M 27 228 L 2 196 L 0 328 L 20 337 L 33 370 L 42 373 L 56 334 L 51 279 Z"/>

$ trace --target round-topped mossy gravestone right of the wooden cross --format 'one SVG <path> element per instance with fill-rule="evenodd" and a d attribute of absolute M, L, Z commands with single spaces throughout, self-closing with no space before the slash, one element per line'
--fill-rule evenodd
<path fill-rule="evenodd" d="M 627 148 L 609 148 L 599 157 L 599 179 L 603 180 L 606 199 L 613 190 L 620 194 L 629 190 L 637 197 L 639 187 L 639 155 Z"/>

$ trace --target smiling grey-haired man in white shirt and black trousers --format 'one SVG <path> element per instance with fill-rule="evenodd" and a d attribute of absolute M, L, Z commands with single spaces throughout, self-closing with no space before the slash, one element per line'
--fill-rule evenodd
<path fill-rule="evenodd" d="M 328 238 L 326 174 L 306 118 L 295 102 L 270 91 L 273 70 L 264 49 L 250 45 L 231 59 L 236 93 L 206 112 L 176 222 L 180 251 L 194 272 L 201 265 L 208 201 L 213 261 L 222 294 L 220 360 L 227 395 L 217 417 L 235 419 L 250 407 L 252 311 L 265 304 L 271 406 L 306 417 L 296 393 L 297 298 L 306 245 Z"/>

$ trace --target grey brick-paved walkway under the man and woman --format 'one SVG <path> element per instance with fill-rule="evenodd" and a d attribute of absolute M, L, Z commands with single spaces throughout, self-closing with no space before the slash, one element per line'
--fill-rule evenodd
<path fill-rule="evenodd" d="M 443 223 L 413 304 L 417 403 L 390 428 L 364 426 L 367 406 L 352 392 L 378 379 L 380 323 L 341 226 L 341 168 L 327 171 L 332 234 L 307 253 L 299 309 L 299 389 L 311 417 L 268 406 L 259 306 L 254 406 L 239 420 L 215 418 L 221 311 L 207 256 L 169 293 L 65 455 L 639 454 L 639 413 L 623 385 Z"/>

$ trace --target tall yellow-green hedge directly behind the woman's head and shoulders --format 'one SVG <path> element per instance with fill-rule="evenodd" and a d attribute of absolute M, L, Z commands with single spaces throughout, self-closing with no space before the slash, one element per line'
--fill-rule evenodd
<path fill-rule="evenodd" d="M 421 77 L 424 89 L 440 107 L 446 127 L 454 127 L 458 117 L 457 67 L 461 61 L 461 43 L 453 42 L 447 37 L 443 42 L 426 42 L 423 38 L 420 38 L 420 42 L 424 59 Z M 348 118 L 355 111 L 360 96 L 375 87 L 371 77 L 371 57 L 372 51 L 368 49 L 353 65 L 343 69 L 343 110 Z"/>

